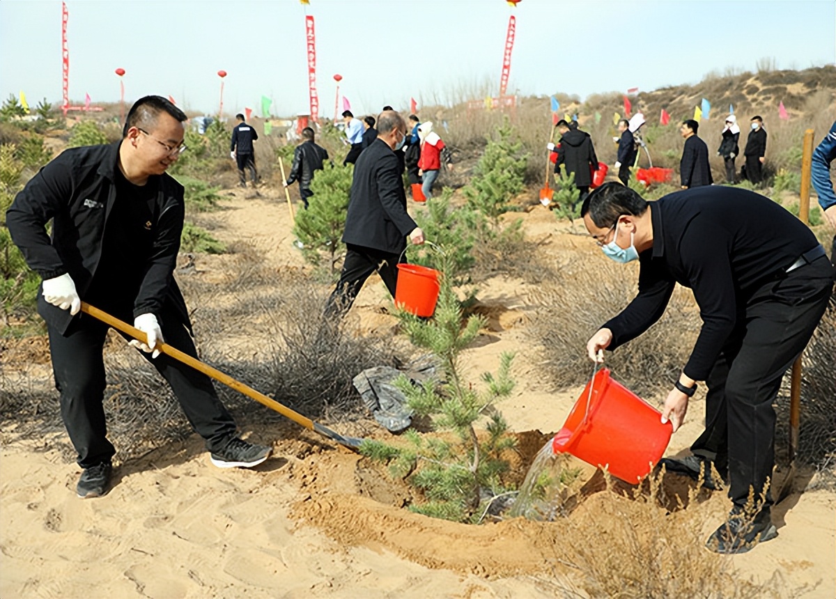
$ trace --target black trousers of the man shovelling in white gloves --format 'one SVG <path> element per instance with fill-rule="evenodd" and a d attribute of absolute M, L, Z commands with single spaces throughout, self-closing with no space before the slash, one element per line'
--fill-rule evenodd
<path fill-rule="evenodd" d="M 107 311 L 121 320 L 133 322 L 130 308 L 116 311 L 110 307 Z M 191 335 L 186 326 L 178 322 L 176 314 L 164 310 L 161 318 L 166 343 L 196 358 Z M 109 461 L 116 452 L 107 439 L 102 405 L 105 387 L 102 348 L 108 326 L 82 314 L 74 319 L 64 335 L 53 327 L 47 329 L 55 388 L 61 395 L 61 418 L 79 454 L 79 466 L 89 468 Z M 206 439 L 206 449 L 222 449 L 235 435 L 236 426 L 232 415 L 218 399 L 212 381 L 165 353 L 155 359 L 151 359 L 150 353 L 142 355 L 171 385 L 191 428 Z"/>

